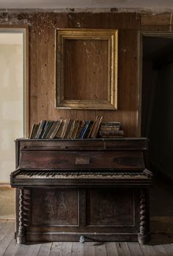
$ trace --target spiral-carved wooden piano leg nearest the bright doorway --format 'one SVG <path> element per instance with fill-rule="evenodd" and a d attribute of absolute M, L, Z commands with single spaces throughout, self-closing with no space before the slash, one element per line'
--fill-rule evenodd
<path fill-rule="evenodd" d="M 25 243 L 25 229 L 24 229 L 24 189 L 19 190 L 19 219 L 18 219 L 18 235 L 17 243 Z"/>

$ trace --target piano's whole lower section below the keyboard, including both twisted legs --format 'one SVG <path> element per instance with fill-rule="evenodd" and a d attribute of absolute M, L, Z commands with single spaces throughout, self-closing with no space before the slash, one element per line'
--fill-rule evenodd
<path fill-rule="evenodd" d="M 138 233 L 145 240 L 146 194 L 133 187 L 17 189 L 18 241 L 134 241 Z"/>

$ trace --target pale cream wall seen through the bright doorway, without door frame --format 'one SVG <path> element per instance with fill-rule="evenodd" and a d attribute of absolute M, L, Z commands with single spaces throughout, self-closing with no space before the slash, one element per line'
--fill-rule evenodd
<path fill-rule="evenodd" d="M 23 137 L 23 111 L 22 44 L 0 43 L 0 183 L 10 183 L 15 169 L 14 140 Z"/>

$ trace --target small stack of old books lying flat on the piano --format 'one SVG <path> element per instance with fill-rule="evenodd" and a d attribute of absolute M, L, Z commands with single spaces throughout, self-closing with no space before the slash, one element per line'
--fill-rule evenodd
<path fill-rule="evenodd" d="M 104 122 L 99 129 L 101 138 L 122 138 L 124 131 L 121 129 L 120 122 Z"/>

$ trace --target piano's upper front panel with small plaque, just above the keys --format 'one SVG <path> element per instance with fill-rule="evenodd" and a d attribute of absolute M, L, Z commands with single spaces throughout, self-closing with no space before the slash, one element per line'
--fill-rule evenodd
<path fill-rule="evenodd" d="M 21 169 L 144 169 L 141 151 L 59 151 L 21 149 Z"/>

